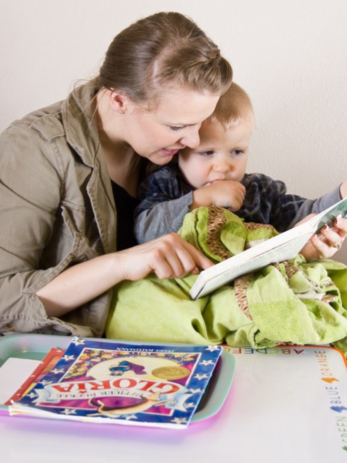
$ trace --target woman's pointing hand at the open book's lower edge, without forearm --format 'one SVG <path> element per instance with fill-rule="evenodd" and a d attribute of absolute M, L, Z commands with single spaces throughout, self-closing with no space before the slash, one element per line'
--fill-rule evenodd
<path fill-rule="evenodd" d="M 124 280 L 140 280 L 150 273 L 159 278 L 180 278 L 197 274 L 200 267 L 207 269 L 213 263 L 177 233 L 164 235 L 117 253 Z"/>

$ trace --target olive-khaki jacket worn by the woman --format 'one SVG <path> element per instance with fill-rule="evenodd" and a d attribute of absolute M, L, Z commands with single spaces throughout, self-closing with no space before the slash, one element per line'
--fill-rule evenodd
<path fill-rule="evenodd" d="M 104 333 L 111 291 L 61 320 L 35 295 L 67 267 L 115 251 L 94 90 L 90 81 L 0 135 L 0 333 Z"/>

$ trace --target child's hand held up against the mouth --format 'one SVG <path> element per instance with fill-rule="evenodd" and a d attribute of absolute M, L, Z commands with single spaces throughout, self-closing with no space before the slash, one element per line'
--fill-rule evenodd
<path fill-rule="evenodd" d="M 200 206 L 216 205 L 228 207 L 236 212 L 243 205 L 245 187 L 234 180 L 216 180 L 209 185 L 193 191 L 192 209 Z"/>

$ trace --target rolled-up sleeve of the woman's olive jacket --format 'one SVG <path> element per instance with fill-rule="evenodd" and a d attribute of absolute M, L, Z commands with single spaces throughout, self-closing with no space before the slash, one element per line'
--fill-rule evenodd
<path fill-rule="evenodd" d="M 0 136 L 0 332 L 32 332 L 49 319 L 35 292 L 56 273 L 40 262 L 54 230 L 62 175 L 54 146 L 18 122 Z"/>

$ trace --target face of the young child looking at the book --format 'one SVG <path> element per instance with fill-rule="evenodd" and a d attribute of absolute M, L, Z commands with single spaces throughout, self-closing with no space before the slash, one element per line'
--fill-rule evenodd
<path fill-rule="evenodd" d="M 215 180 L 241 182 L 248 162 L 248 150 L 254 122 L 250 117 L 235 127 L 205 120 L 200 128 L 200 145 L 179 152 L 179 168 L 195 189 Z"/>

